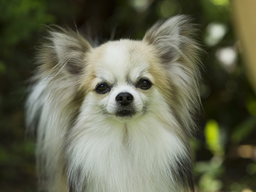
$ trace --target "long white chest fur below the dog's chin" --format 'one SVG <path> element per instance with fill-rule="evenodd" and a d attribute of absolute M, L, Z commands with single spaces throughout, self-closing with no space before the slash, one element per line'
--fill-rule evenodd
<path fill-rule="evenodd" d="M 66 150 L 77 191 L 181 191 L 173 175 L 186 151 L 170 127 L 150 116 L 125 124 L 91 119 L 77 123 Z"/>

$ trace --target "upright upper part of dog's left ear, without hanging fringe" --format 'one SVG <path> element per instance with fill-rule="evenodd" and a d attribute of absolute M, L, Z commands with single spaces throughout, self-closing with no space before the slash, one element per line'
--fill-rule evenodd
<path fill-rule="evenodd" d="M 38 52 L 39 70 L 51 75 L 81 74 L 86 66 L 86 54 L 91 45 L 79 33 L 58 27 L 49 31 Z"/>

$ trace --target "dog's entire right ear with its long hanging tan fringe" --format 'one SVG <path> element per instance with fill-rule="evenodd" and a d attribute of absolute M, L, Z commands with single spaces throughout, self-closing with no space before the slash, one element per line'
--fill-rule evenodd
<path fill-rule="evenodd" d="M 195 124 L 191 116 L 200 108 L 200 60 L 201 51 L 195 36 L 195 24 L 185 15 L 157 22 L 145 34 L 143 41 L 155 47 L 162 67 L 170 79 L 170 87 L 175 90 L 170 106 L 180 118 L 179 122 L 188 134 L 193 133 Z"/>

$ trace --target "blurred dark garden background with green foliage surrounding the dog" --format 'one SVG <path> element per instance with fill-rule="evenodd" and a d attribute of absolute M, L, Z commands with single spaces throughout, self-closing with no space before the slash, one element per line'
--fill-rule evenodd
<path fill-rule="evenodd" d="M 177 14 L 194 18 L 205 51 L 204 111 L 191 141 L 198 191 L 256 191 L 253 1 L 1 0 L 0 191 L 36 191 L 35 146 L 25 134 L 24 101 L 45 26 L 77 28 L 101 44 L 109 38 L 141 39 L 154 22 Z"/>

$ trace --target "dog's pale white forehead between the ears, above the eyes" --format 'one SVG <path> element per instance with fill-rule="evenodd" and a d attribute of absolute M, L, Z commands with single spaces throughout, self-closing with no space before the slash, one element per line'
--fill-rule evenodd
<path fill-rule="evenodd" d="M 138 81 L 147 74 L 147 46 L 141 42 L 120 40 L 108 42 L 98 50 L 95 63 L 97 77 L 106 79 L 110 83 L 116 81 Z"/>

